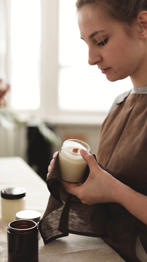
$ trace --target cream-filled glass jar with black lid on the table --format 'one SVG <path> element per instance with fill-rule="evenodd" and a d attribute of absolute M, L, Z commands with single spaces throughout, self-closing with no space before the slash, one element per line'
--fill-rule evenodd
<path fill-rule="evenodd" d="M 17 212 L 26 208 L 26 190 L 22 187 L 11 187 L 1 190 L 1 218 L 14 221 Z"/>

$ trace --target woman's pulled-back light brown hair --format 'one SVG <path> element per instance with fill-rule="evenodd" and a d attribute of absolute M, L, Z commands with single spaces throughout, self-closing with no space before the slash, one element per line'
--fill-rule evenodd
<path fill-rule="evenodd" d="M 147 0 L 77 0 L 77 12 L 82 6 L 102 7 L 109 17 L 126 24 L 132 24 L 142 10 L 147 10 Z"/>

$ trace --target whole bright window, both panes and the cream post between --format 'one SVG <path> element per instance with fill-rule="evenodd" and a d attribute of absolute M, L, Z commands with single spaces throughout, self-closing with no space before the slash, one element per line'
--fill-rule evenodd
<path fill-rule="evenodd" d="M 111 83 L 97 66 L 88 65 L 88 48 L 80 39 L 76 20 L 76 0 L 7 2 L 12 109 L 35 111 L 46 120 L 72 115 L 76 121 L 80 113 L 89 117 L 106 113 L 114 98 L 130 88 L 129 78 Z M 6 50 L 1 50 L 4 60 Z"/>

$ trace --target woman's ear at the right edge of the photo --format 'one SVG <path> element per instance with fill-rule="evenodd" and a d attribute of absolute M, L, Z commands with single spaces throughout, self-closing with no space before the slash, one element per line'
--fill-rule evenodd
<path fill-rule="evenodd" d="M 137 22 L 139 24 L 139 39 L 147 38 L 147 11 L 141 11 L 138 14 Z"/>

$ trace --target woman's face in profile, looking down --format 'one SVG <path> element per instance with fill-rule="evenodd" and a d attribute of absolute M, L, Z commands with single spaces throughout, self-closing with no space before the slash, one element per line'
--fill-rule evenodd
<path fill-rule="evenodd" d="M 100 11 L 98 13 L 98 10 L 92 11 L 91 6 L 83 6 L 78 12 L 78 25 L 81 38 L 88 45 L 90 65 L 97 65 L 109 81 L 138 77 L 143 62 L 138 27 L 133 28 L 136 30 L 133 37 L 126 32 L 123 24 L 102 15 Z"/>

